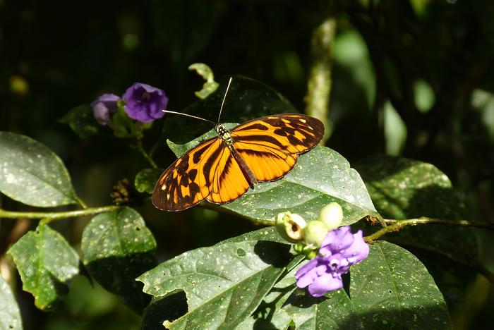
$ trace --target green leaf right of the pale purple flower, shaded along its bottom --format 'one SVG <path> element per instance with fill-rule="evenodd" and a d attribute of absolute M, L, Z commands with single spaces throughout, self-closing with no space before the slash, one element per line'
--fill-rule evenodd
<path fill-rule="evenodd" d="M 350 272 L 351 302 L 366 329 L 452 329 L 432 276 L 402 247 L 376 242 Z"/>

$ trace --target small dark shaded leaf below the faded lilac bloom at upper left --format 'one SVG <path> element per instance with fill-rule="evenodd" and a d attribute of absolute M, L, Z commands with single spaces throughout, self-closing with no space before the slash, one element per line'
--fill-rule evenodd
<path fill-rule="evenodd" d="M 95 116 L 92 114 L 92 108 L 88 104 L 76 106 L 69 110 L 65 116 L 59 119 L 59 122 L 71 126 L 79 138 L 88 138 L 100 130 L 100 125 L 97 123 Z"/>

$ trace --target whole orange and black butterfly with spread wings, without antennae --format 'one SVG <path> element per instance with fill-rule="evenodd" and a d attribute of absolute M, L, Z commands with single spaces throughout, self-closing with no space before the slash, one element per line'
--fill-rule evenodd
<path fill-rule="evenodd" d="M 152 202 L 166 211 L 187 209 L 203 200 L 233 202 L 259 182 L 275 181 L 293 169 L 299 154 L 317 145 L 323 123 L 301 114 L 253 119 L 201 142 L 164 171 Z"/>

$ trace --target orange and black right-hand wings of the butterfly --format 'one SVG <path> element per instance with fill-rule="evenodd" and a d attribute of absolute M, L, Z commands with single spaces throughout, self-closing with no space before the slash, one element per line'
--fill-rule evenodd
<path fill-rule="evenodd" d="M 323 135 L 323 123 L 301 114 L 266 116 L 231 130 L 236 152 L 261 182 L 285 176 L 299 154 L 318 145 Z"/>

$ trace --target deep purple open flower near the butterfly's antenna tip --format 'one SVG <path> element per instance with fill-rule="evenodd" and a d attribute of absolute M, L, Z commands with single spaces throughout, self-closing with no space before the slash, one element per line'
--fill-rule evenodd
<path fill-rule="evenodd" d="M 149 123 L 164 116 L 168 97 L 163 90 L 150 85 L 134 82 L 122 96 L 126 100 L 125 112 L 129 117 L 142 123 Z"/>

